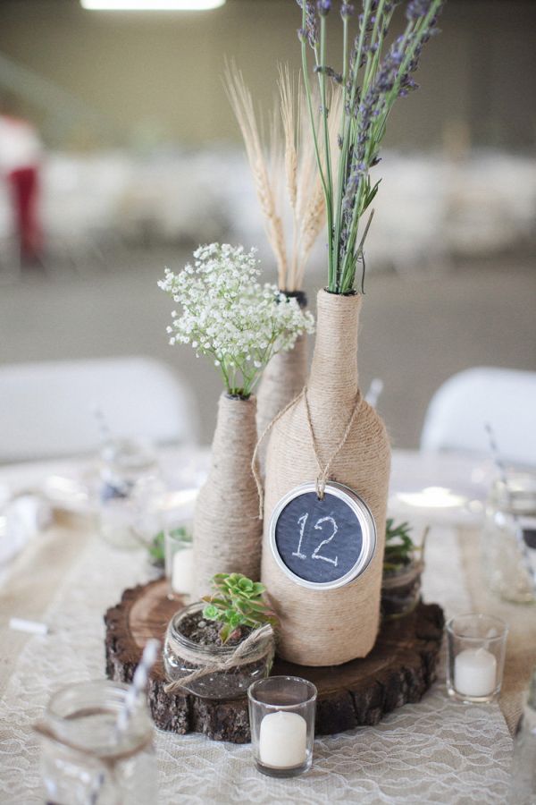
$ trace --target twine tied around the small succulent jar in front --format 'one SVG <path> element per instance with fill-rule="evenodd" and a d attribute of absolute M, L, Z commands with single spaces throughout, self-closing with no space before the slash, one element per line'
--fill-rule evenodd
<path fill-rule="evenodd" d="M 167 642 L 171 650 L 176 653 L 181 659 L 186 660 L 192 665 L 201 665 L 191 674 L 180 677 L 180 679 L 173 680 L 164 685 L 163 690 L 166 693 L 179 693 L 182 690 L 188 691 L 188 684 L 196 682 L 208 674 L 217 674 L 222 671 L 229 671 L 237 665 L 247 665 L 255 663 L 256 660 L 261 659 L 266 654 L 266 646 L 264 641 L 273 637 L 273 629 L 269 623 L 255 629 L 251 634 L 243 640 L 237 648 L 228 657 L 222 660 L 216 660 L 213 657 L 199 657 L 196 651 L 190 651 L 185 648 L 182 643 L 175 640 L 171 635 L 168 635 Z"/>

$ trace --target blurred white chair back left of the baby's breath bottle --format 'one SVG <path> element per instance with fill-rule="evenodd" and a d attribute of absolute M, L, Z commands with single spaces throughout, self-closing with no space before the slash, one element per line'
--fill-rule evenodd
<path fill-rule="evenodd" d="M 96 452 L 96 409 L 113 436 L 196 442 L 192 394 L 158 360 L 21 363 L 0 367 L 0 462 Z"/>

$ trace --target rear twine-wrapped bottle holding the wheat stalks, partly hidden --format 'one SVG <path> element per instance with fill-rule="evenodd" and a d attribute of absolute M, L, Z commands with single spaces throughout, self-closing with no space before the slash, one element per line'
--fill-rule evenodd
<path fill-rule="evenodd" d="M 307 305 L 303 291 L 282 291 L 285 296 L 297 299 L 300 308 Z M 263 379 L 257 392 L 257 433 L 261 436 L 264 429 L 272 422 L 280 411 L 293 400 L 306 385 L 307 377 L 307 336 L 298 335 L 293 349 L 278 352 L 264 369 Z M 264 475 L 266 449 L 268 440 L 264 439 L 258 447 L 261 474 Z"/>

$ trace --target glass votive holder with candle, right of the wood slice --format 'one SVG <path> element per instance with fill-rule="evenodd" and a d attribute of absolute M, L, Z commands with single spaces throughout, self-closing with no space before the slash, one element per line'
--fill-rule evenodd
<path fill-rule="evenodd" d="M 446 629 L 448 695 L 473 704 L 496 699 L 505 665 L 507 623 L 471 613 L 451 618 Z"/>

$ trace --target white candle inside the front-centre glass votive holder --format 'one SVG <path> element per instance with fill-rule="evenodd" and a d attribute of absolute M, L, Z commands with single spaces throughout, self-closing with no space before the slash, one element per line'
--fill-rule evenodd
<path fill-rule="evenodd" d="M 259 733 L 259 759 L 264 766 L 301 766 L 307 757 L 307 723 L 299 713 L 278 710 L 264 716 Z"/>

